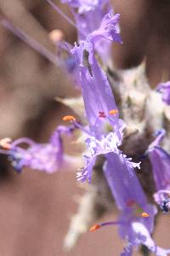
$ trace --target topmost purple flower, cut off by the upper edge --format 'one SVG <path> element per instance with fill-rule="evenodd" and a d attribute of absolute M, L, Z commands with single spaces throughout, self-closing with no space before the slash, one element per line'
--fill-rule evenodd
<path fill-rule="evenodd" d="M 77 24 L 79 41 L 89 34 L 95 38 L 95 49 L 104 63 L 111 62 L 111 41 L 122 44 L 117 25 L 120 15 L 112 15 L 108 0 L 64 1 L 71 6 Z M 74 9 L 78 9 L 75 12 Z"/>

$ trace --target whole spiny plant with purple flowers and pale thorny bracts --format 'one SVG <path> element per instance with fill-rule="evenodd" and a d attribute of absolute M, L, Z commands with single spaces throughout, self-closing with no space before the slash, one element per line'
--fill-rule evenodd
<path fill-rule="evenodd" d="M 69 125 L 56 127 L 45 144 L 25 137 L 15 141 L 3 138 L 0 153 L 8 155 L 16 172 L 25 166 L 57 172 L 77 160 L 65 154 L 62 136 L 71 136 L 78 129 L 78 141 L 86 150 L 79 156 L 83 166 L 77 181 L 89 185 L 71 219 L 65 247 L 73 247 L 90 227 L 94 231 L 116 225 L 126 242 L 121 255 L 132 255 L 137 247 L 143 247 L 147 255 L 168 255 L 170 249 L 157 246 L 152 234 L 158 212 L 170 209 L 170 81 L 152 90 L 144 62 L 127 70 L 114 67 L 111 44 L 122 44 L 120 15 L 114 14 L 108 0 L 61 0 L 69 5 L 74 21 L 54 2 L 46 2 L 77 28 L 74 45 L 63 40 L 61 31 L 50 32 L 56 55 L 8 20 L 1 24 L 65 69 L 82 96 L 59 102 L 71 108 L 78 120 L 65 115 L 63 120 Z M 21 147 L 22 143 L 27 148 Z M 114 211 L 115 205 L 118 219 L 94 224 L 105 212 Z"/>

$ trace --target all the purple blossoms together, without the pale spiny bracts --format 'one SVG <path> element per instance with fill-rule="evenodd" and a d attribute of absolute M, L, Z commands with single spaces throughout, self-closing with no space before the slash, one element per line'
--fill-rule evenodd
<path fill-rule="evenodd" d="M 61 12 L 53 2 L 47 0 L 54 9 Z M 78 33 L 78 43 L 74 46 L 54 36 L 58 54 L 67 52 L 67 58 L 62 61 L 65 71 L 77 83 L 82 91 L 84 114 L 81 122 L 68 115 L 63 119 L 70 121 L 70 126 L 58 126 L 46 144 L 33 142 L 29 138 L 20 138 L 11 142 L 9 138 L 2 139 L 0 153 L 8 154 L 17 172 L 27 166 L 33 169 L 53 173 L 62 168 L 68 161 L 64 152 L 62 135 L 71 134 L 79 129 L 82 131 L 84 143 L 87 146 L 83 154 L 84 166 L 77 172 L 77 180 L 93 183 L 93 171 L 100 155 L 105 157 L 101 172 L 111 190 L 120 211 L 118 220 L 94 225 L 91 230 L 97 230 L 105 225 L 118 225 L 120 237 L 127 241 L 122 256 L 130 256 L 133 247 L 144 245 L 157 256 L 165 256 L 170 249 L 158 247 L 151 235 L 154 230 L 156 206 L 150 204 L 144 193 L 135 168 L 140 168 L 141 162 L 135 163 L 122 151 L 127 124 L 122 119 L 122 108 L 117 108 L 111 84 L 103 67 L 111 68 L 111 44 L 122 44 L 120 36 L 120 15 L 113 14 L 108 0 L 61 0 L 67 3 L 74 15 Z M 161 92 L 161 94 L 160 94 Z M 170 105 L 170 82 L 158 84 L 155 91 L 162 96 L 163 104 Z M 155 131 L 155 139 L 148 145 L 143 157 L 149 157 L 156 185 L 154 200 L 162 212 L 170 209 L 170 154 L 161 148 L 166 136 L 166 130 L 161 127 Z M 26 143 L 27 148 L 20 147 Z M 141 161 L 143 161 L 141 155 Z M 90 184 L 89 184 L 90 185 Z"/>

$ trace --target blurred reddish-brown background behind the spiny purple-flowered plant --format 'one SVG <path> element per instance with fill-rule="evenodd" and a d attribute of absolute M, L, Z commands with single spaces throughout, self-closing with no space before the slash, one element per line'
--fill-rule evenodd
<path fill-rule="evenodd" d="M 66 5 L 55 1 L 66 15 Z M 115 12 L 122 15 L 123 45 L 114 44 L 118 68 L 138 65 L 145 59 L 151 86 L 169 79 L 169 0 L 114 0 Z M 8 18 L 54 52 L 48 32 L 61 29 L 71 44 L 77 39 L 74 27 L 44 0 L 0 0 L 0 14 Z M 54 96 L 75 96 L 71 80 L 54 64 L 0 26 L 0 138 L 31 137 L 45 143 L 68 108 Z M 65 145 L 67 146 L 67 142 Z M 71 151 L 71 145 L 68 146 Z M 85 256 L 119 255 L 122 242 L 116 227 L 82 236 L 70 253 L 62 249 L 71 215 L 76 212 L 77 170 L 43 172 L 24 170 L 17 175 L 5 157 L 0 160 L 0 256 Z M 105 220 L 116 218 L 116 212 Z M 156 241 L 170 246 L 170 219 L 161 216 Z M 136 253 L 136 255 L 139 255 Z"/>

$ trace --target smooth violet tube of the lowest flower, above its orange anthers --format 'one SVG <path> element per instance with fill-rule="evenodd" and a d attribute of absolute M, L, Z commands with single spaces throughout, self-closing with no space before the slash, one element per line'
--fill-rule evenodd
<path fill-rule="evenodd" d="M 133 200 L 144 207 L 147 204 L 144 191 L 140 186 L 133 168 L 129 167 L 122 154 L 106 154 L 104 173 L 120 210 L 127 208 L 127 202 Z M 130 176 L 129 173 L 132 173 Z"/>

